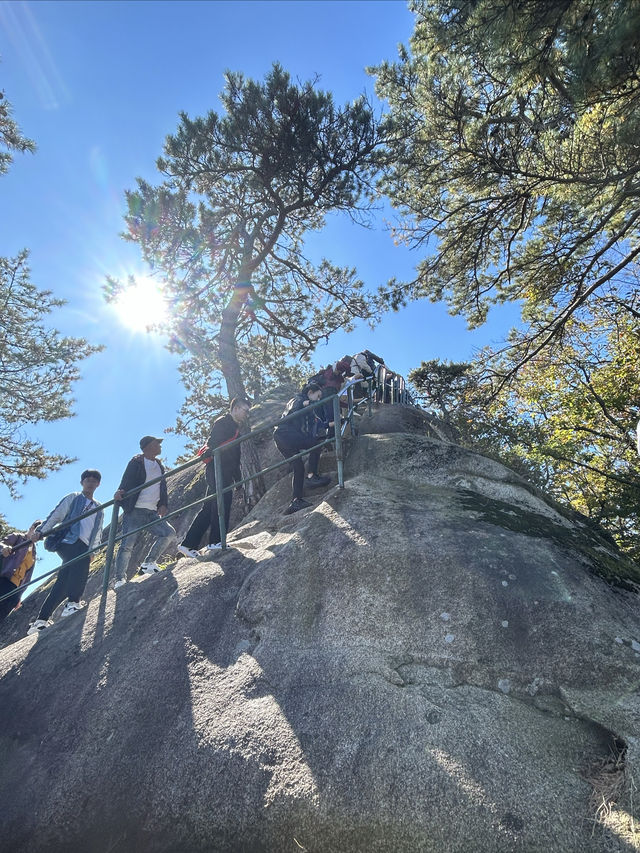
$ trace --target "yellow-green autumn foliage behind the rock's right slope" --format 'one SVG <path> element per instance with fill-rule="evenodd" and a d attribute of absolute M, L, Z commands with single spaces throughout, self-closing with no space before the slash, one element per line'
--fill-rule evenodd
<path fill-rule="evenodd" d="M 470 363 L 426 361 L 409 379 L 459 441 L 498 456 L 602 524 L 639 559 L 640 344 L 619 306 L 600 306 L 589 325 L 587 340 L 581 322 L 571 319 L 562 345 L 546 348 L 497 395 L 482 356 Z"/>

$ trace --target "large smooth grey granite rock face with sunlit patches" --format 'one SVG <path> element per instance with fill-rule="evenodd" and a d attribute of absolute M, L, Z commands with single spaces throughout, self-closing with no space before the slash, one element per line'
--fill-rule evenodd
<path fill-rule="evenodd" d="M 6 849 L 633 850 L 637 567 L 426 432 L 383 407 L 344 490 L 5 648 Z"/>

